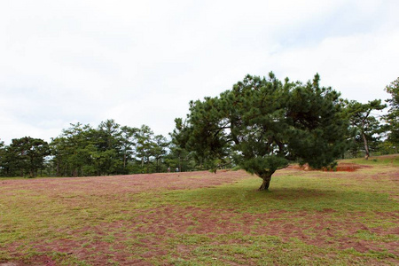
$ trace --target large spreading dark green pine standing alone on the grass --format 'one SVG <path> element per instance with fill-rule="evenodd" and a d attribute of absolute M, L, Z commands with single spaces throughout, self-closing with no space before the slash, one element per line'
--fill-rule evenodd
<path fill-rule="evenodd" d="M 289 161 L 312 168 L 331 166 L 346 147 L 348 123 L 339 93 L 313 82 L 280 82 L 247 75 L 220 97 L 190 103 L 187 148 L 211 160 L 229 154 L 262 178 L 267 190 L 273 173 Z"/>

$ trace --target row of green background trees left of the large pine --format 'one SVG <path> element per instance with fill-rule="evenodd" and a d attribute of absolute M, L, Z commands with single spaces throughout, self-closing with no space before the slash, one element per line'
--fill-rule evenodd
<path fill-rule="evenodd" d="M 1 176 L 108 176 L 188 170 L 182 153 L 167 137 L 155 135 L 146 125 L 121 126 L 102 121 L 71 124 L 59 137 L 21 137 L 10 145 L 0 143 Z M 192 169 L 192 167 L 190 167 Z"/>

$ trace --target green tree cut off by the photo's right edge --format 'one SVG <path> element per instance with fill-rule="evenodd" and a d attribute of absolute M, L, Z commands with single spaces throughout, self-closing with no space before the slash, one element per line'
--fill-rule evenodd
<path fill-rule="evenodd" d="M 397 150 L 399 146 L 399 77 L 391 82 L 385 90 L 391 95 L 391 98 L 387 99 L 389 110 L 385 116 L 389 131 L 388 141 L 395 145 Z"/>

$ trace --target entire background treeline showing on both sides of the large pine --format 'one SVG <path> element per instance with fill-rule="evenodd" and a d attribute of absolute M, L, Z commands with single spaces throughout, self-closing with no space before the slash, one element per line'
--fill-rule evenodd
<path fill-rule="evenodd" d="M 366 104 L 340 99 L 337 103 L 341 122 L 348 126 L 346 152 L 341 154 L 342 158 L 364 156 L 367 159 L 371 153 L 398 153 L 399 78 L 385 90 L 391 96 L 386 100 L 387 105 L 380 99 Z M 298 99 L 297 104 L 305 103 Z M 382 114 L 384 109 L 387 112 Z M 207 122 L 211 122 L 211 113 L 207 113 Z M 192 119 L 195 115 L 192 113 Z M 223 154 L 216 157 L 209 156 L 205 149 L 193 148 L 200 141 L 215 145 L 215 135 L 204 139 L 200 138 L 205 135 L 199 135 L 199 139 L 192 139 L 188 130 L 190 121 L 176 118 L 175 122 L 176 129 L 168 138 L 155 135 L 146 125 L 140 128 L 121 126 L 111 119 L 102 121 L 97 128 L 89 124 L 71 124 L 59 137 L 51 138 L 50 143 L 33 137 L 12 139 L 10 145 L 0 141 L 0 176 L 108 176 L 166 172 L 168 168 L 190 171 L 235 166 L 231 162 L 234 153 L 231 148 L 223 149 Z M 223 125 L 219 127 L 223 129 Z M 248 134 L 257 134 L 251 132 L 255 129 L 247 130 Z"/>

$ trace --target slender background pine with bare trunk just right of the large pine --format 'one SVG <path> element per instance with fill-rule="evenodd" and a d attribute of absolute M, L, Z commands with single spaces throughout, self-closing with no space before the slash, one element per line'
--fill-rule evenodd
<path fill-rule="evenodd" d="M 369 142 L 377 141 L 379 138 L 376 137 L 376 135 L 381 130 L 379 119 L 372 114 L 372 111 L 380 111 L 385 107 L 386 105 L 382 105 L 380 99 L 369 101 L 367 104 L 356 101 L 350 101 L 348 103 L 348 118 L 355 143 L 353 147 L 361 139 L 364 145 L 365 160 L 368 160 L 370 157 Z"/>

